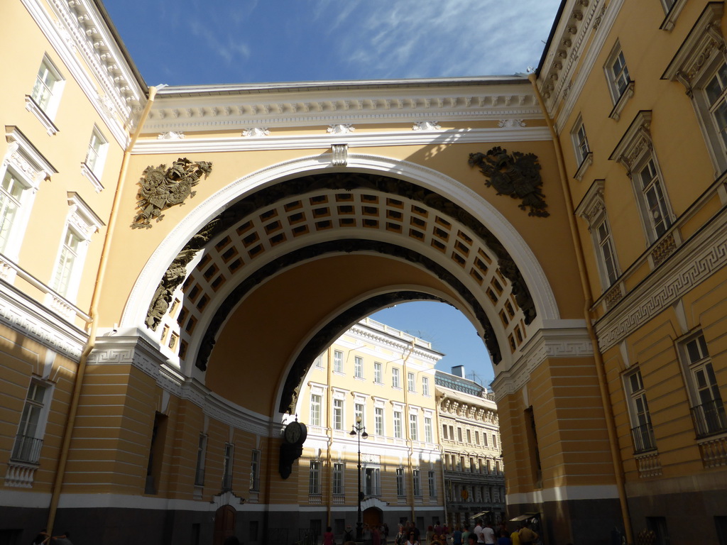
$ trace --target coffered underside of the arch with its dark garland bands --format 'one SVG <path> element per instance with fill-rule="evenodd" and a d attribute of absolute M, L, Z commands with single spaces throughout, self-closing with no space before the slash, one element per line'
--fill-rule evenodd
<path fill-rule="evenodd" d="M 435 295 L 432 286 L 378 286 L 364 301 L 316 311 L 316 331 L 295 347 L 280 377 L 281 410 L 292 402 L 296 381 L 315 357 L 310 354 L 378 308 L 410 299 L 446 300 L 473 320 L 494 363 L 511 360 L 539 312 L 513 257 L 480 219 L 422 185 L 345 171 L 273 183 L 222 211 L 169 266 L 160 290 L 169 278 L 186 278 L 169 304 L 158 304 L 157 292 L 148 326 L 164 350 L 179 358 L 185 374 L 204 380 L 220 332 L 253 291 L 302 263 L 350 254 L 378 255 L 387 263 L 424 270 L 451 295 Z"/>

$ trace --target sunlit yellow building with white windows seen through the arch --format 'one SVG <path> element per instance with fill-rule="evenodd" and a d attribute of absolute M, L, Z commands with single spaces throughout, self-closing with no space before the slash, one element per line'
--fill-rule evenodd
<path fill-rule="evenodd" d="M 441 357 L 430 342 L 366 318 L 316 358 L 296 406 L 308 429 L 290 477 L 303 500 L 296 516 L 308 519 L 299 528 L 322 536 L 331 526 L 337 538 L 347 526 L 355 531 L 359 445 L 361 522 L 395 534 L 407 520 L 422 529 L 446 520 L 434 370 Z"/>

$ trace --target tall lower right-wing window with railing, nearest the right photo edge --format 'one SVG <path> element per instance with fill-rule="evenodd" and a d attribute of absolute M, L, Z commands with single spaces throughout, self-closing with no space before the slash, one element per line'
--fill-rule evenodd
<path fill-rule="evenodd" d="M 697 437 L 726 432 L 725 408 L 712 368 L 712 358 L 701 331 L 680 343 L 680 355 Z"/>

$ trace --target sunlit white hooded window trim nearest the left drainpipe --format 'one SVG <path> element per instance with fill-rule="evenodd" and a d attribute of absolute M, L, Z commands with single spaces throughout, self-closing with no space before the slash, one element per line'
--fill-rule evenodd
<path fill-rule="evenodd" d="M 63 241 L 65 241 L 65 235 L 68 230 L 72 230 L 73 233 L 81 238 L 81 244 L 79 245 L 78 256 L 76 261 L 73 263 L 73 271 L 71 273 L 71 280 L 68 282 L 68 290 L 63 296 L 60 294 L 49 293 L 47 294 L 46 304 L 50 304 L 51 307 L 55 307 L 58 302 L 55 300 L 60 297 L 61 302 L 73 301 L 78 295 L 79 286 L 81 284 L 81 276 L 83 275 L 84 265 L 86 262 L 86 256 L 88 247 L 91 243 L 91 237 L 94 233 L 97 233 L 104 223 L 101 221 L 95 212 L 84 202 L 84 200 L 75 192 L 68 192 L 68 216 L 65 220 L 65 227 L 60 238 L 60 245 L 58 246 L 58 253 L 55 257 L 55 266 L 51 275 L 52 285 L 53 279 L 55 279 L 58 267 L 60 267 L 60 257 L 63 254 Z"/>

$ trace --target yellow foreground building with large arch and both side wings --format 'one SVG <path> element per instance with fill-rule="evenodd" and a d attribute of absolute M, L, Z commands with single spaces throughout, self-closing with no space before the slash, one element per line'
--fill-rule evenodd
<path fill-rule="evenodd" d="M 4 541 L 284 543 L 311 365 L 437 300 L 507 517 L 725 542 L 723 2 L 565 0 L 529 77 L 161 89 L 99 1 L 0 9 Z"/>

